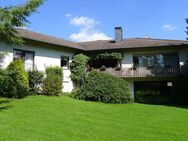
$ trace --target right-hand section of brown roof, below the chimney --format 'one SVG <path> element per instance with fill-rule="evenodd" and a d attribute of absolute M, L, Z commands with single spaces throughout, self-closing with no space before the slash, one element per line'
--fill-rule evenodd
<path fill-rule="evenodd" d="M 162 46 L 182 46 L 188 45 L 188 41 L 151 39 L 151 38 L 132 38 L 125 39 L 120 43 L 113 40 L 99 40 L 79 43 L 85 50 L 107 50 L 107 49 L 124 49 L 124 48 L 143 48 L 143 47 L 162 47 Z"/>

